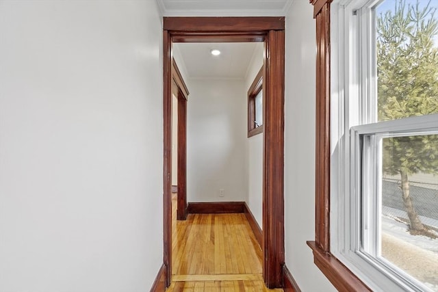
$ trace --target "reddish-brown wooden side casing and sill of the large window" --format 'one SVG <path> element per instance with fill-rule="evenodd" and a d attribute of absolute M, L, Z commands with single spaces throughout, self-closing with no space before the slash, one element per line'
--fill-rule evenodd
<path fill-rule="evenodd" d="M 371 291 L 330 252 L 330 3 L 310 0 L 316 18 L 315 241 L 313 261 L 338 291 Z"/>

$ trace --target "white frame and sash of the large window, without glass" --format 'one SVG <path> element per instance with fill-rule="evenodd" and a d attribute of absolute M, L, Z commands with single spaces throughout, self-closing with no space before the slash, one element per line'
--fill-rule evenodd
<path fill-rule="evenodd" d="M 370 135 L 373 146 L 381 137 L 409 133 L 438 133 L 438 114 L 376 122 L 376 62 L 374 15 L 370 9 L 381 0 L 335 0 L 331 4 L 331 253 L 373 291 L 429 291 L 421 282 L 379 261 L 361 249 L 361 175 L 359 140 Z M 379 147 L 375 147 L 378 151 Z M 378 159 L 372 147 L 363 151 Z M 376 161 L 378 162 L 378 161 Z M 369 168 L 370 169 L 370 168 Z M 365 180 L 378 194 L 381 176 Z M 366 202 L 368 207 L 377 204 Z M 366 205 L 364 205 L 366 207 Z M 370 208 L 376 215 L 378 209 Z M 378 217 L 378 216 L 376 216 Z M 372 232 L 378 220 L 372 220 Z M 368 241 L 376 254 L 377 243 Z"/>

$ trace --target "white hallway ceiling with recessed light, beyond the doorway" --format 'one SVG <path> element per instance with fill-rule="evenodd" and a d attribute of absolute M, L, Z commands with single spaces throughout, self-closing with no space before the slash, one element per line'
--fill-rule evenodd
<path fill-rule="evenodd" d="M 195 79 L 244 79 L 251 61 L 263 57 L 263 42 L 177 42 L 173 48 L 177 65 Z"/>

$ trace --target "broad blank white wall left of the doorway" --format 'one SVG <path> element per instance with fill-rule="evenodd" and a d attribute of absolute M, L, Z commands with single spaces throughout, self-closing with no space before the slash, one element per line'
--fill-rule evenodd
<path fill-rule="evenodd" d="M 162 265 L 155 1 L 0 1 L 0 291 L 149 291 Z"/>

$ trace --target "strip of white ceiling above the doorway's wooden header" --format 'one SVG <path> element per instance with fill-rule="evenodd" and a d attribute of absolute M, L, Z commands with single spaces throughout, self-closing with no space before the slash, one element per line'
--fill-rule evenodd
<path fill-rule="evenodd" d="M 156 0 L 163 16 L 285 16 L 294 0 Z"/>

